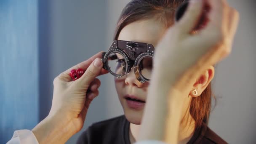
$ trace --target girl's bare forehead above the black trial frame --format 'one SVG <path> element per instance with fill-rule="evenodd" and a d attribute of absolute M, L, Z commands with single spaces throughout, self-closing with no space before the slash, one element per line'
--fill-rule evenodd
<path fill-rule="evenodd" d="M 118 40 L 149 43 L 154 47 L 166 31 L 166 27 L 155 19 L 135 21 L 125 26 L 118 37 Z"/>

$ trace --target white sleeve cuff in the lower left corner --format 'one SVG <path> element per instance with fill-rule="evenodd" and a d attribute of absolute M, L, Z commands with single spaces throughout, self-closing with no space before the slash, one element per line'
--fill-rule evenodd
<path fill-rule="evenodd" d="M 14 131 L 13 137 L 6 144 L 38 144 L 34 133 L 29 130 Z"/>

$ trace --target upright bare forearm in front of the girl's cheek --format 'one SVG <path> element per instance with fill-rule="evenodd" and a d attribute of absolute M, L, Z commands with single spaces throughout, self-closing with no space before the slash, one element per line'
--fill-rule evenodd
<path fill-rule="evenodd" d="M 140 140 L 171 139 L 174 141 L 172 144 L 175 144 L 178 139 L 182 99 L 176 100 L 176 98 L 182 98 L 182 96 L 179 91 L 172 89 L 171 83 L 165 82 L 160 77 L 154 78 L 151 82 Z"/>

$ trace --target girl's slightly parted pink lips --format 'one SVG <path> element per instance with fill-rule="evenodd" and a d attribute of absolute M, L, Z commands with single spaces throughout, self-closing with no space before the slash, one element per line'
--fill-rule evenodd
<path fill-rule="evenodd" d="M 124 98 L 126 99 L 126 104 L 128 107 L 132 109 L 141 109 L 146 103 L 144 100 L 133 95 L 125 95 Z"/>

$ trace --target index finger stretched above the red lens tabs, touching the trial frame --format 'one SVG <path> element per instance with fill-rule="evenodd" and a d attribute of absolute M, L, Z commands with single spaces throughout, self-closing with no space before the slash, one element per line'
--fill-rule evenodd
<path fill-rule="evenodd" d="M 96 59 L 96 58 L 102 58 L 102 52 L 103 51 L 101 51 L 101 52 L 99 52 L 99 53 L 96 53 L 94 56 L 92 56 L 91 58 L 89 58 L 88 60 L 86 60 L 86 61 L 83 61 L 83 62 L 81 62 L 81 63 L 79 63 L 79 64 L 77 64 L 77 65 L 75 65 L 75 66 L 73 66 L 73 67 L 71 67 L 71 68 L 69 68 L 69 69 L 67 69 L 66 71 L 64 71 L 64 72 L 62 72 L 58 77 L 59 77 L 59 79 L 61 79 L 61 80 L 63 80 L 63 81 L 71 81 L 72 80 L 72 78 L 69 76 L 69 72 L 72 70 L 72 69 L 87 69 L 89 66 L 90 66 L 90 64 Z M 104 71 L 103 71 L 103 73 L 102 74 L 105 74 L 104 73 Z"/>

